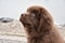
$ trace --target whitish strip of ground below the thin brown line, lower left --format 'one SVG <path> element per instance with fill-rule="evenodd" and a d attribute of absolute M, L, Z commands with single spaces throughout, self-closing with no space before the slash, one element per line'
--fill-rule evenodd
<path fill-rule="evenodd" d="M 1 35 L 0 43 L 26 43 L 26 37 Z"/>

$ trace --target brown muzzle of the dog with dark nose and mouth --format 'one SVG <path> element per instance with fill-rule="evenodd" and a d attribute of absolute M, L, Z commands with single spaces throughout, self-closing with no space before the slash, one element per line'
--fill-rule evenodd
<path fill-rule="evenodd" d="M 23 23 L 24 26 L 30 26 L 31 25 L 31 18 L 34 17 L 35 15 L 32 14 L 29 14 L 29 13 L 23 13 L 21 15 L 21 18 L 20 18 L 20 22 Z"/>

